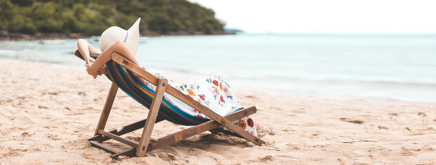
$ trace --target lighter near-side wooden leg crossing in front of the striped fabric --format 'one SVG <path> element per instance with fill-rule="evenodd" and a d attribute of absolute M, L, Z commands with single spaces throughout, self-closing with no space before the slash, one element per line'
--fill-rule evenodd
<path fill-rule="evenodd" d="M 142 130 L 141 140 L 139 140 L 139 145 L 136 153 L 138 157 L 143 157 L 144 155 L 146 155 L 148 143 L 150 142 L 153 126 L 155 126 L 157 113 L 159 112 L 159 108 L 161 107 L 161 102 L 162 102 L 162 98 L 164 97 L 167 83 L 168 80 L 163 78 L 163 79 L 159 79 L 159 82 L 156 85 L 157 89 L 155 92 L 155 97 L 151 102 L 150 111 L 148 111 L 146 124 Z"/>

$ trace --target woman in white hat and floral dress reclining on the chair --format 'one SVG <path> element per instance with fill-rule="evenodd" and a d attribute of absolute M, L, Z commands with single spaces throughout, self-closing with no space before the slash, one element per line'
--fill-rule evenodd
<path fill-rule="evenodd" d="M 90 58 L 90 53 L 99 54 L 99 51 L 84 39 L 79 39 L 79 41 L 77 41 L 79 52 L 86 61 L 85 66 L 87 67 L 86 71 L 88 74 L 94 78 L 97 78 L 97 76 L 101 74 L 108 74 L 108 69 L 104 67 L 104 65 L 110 61 L 110 54 L 113 52 L 123 54 L 124 57 L 128 58 L 136 65 L 139 65 L 139 62 L 135 58 L 135 54 L 139 43 L 140 20 L 141 19 L 138 19 L 129 30 L 123 30 L 122 28 L 115 26 L 105 30 L 100 37 L 100 49 L 103 50 L 103 52 L 101 52 L 96 60 Z M 146 70 L 151 74 L 154 74 L 157 78 L 164 78 L 163 74 L 157 70 Z M 148 83 L 143 78 L 139 76 L 137 76 L 137 78 L 150 89 L 156 89 L 155 85 Z M 212 111 L 215 111 L 219 115 L 228 115 L 229 113 L 241 109 L 241 105 L 237 101 L 235 94 L 233 94 L 228 83 L 226 83 L 221 76 L 212 76 L 210 78 L 184 84 L 175 83 L 174 81 L 169 80 L 168 85 L 175 87 L 182 93 L 190 96 L 190 98 L 203 104 L 205 107 L 212 109 Z M 188 106 L 188 104 L 181 102 L 181 100 L 173 96 L 166 94 L 164 95 L 164 98 L 171 104 L 174 104 L 175 107 L 192 116 L 197 118 L 208 118 L 206 115 L 193 109 Z M 238 125 L 253 135 L 257 135 L 257 133 L 275 134 L 275 131 L 268 128 L 268 126 L 253 122 L 250 117 L 243 118 L 238 122 Z"/>

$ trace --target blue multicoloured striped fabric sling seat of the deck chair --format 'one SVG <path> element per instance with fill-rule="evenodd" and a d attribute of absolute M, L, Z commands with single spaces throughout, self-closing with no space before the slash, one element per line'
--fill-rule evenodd
<path fill-rule="evenodd" d="M 106 67 L 108 67 L 109 72 L 106 76 L 113 83 L 117 84 L 121 90 L 128 94 L 128 96 L 135 99 L 144 107 L 147 107 L 147 109 L 150 109 L 150 104 L 153 96 L 155 96 L 155 91 L 139 81 L 139 79 L 128 69 L 113 61 L 106 63 Z M 165 97 L 162 100 L 159 109 L 159 117 L 175 124 L 183 125 L 197 125 L 210 120 L 207 118 L 199 118 L 182 111 L 175 105 L 170 104 Z"/>

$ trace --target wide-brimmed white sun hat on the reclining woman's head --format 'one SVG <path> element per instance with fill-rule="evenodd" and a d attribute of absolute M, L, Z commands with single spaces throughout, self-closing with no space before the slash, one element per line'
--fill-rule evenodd
<path fill-rule="evenodd" d="M 126 43 L 127 47 L 133 54 L 136 54 L 139 44 L 139 21 L 141 21 L 141 18 L 133 23 L 129 30 L 123 30 L 123 28 L 119 28 L 118 26 L 112 26 L 101 33 L 101 51 L 106 50 L 106 48 L 112 45 L 112 43 L 121 40 Z"/>

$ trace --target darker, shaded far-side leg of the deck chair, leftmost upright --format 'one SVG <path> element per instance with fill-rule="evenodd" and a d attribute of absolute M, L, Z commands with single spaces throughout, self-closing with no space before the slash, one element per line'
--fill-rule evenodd
<path fill-rule="evenodd" d="M 106 103 L 104 103 L 103 111 L 101 111 L 99 124 L 97 124 L 97 129 L 95 129 L 94 135 L 99 134 L 100 129 L 104 129 L 106 126 L 106 122 L 108 122 L 108 117 L 110 113 L 110 109 L 112 109 L 112 104 L 114 103 L 115 96 L 117 95 L 118 86 L 115 83 L 112 83 L 109 89 L 108 98 L 106 98 Z"/>

